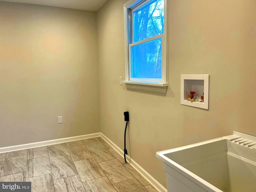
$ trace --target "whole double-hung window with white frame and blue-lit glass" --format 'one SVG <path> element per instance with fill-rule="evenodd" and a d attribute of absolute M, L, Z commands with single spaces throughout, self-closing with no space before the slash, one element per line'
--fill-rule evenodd
<path fill-rule="evenodd" d="M 126 83 L 168 86 L 166 2 L 130 0 L 124 4 Z"/>

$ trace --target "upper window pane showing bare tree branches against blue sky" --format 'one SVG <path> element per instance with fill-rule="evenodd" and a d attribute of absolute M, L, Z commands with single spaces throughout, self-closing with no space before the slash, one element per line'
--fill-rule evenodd
<path fill-rule="evenodd" d="M 152 0 L 133 12 L 133 42 L 164 33 L 164 0 Z"/>

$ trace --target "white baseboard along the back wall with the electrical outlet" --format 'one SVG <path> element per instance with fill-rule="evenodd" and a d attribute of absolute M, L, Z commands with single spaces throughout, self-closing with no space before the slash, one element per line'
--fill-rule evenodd
<path fill-rule="evenodd" d="M 89 138 L 99 137 L 100 135 L 101 135 L 101 133 L 93 133 L 93 134 L 80 135 L 80 136 L 74 136 L 74 137 L 68 137 L 68 138 L 61 138 L 61 139 L 40 141 L 40 142 L 28 143 L 28 144 L 22 144 L 22 145 L 15 145 L 15 146 L 10 146 L 10 147 L 2 147 L 2 148 L 0 148 L 0 153 L 6 153 L 6 152 L 35 148 L 35 147 L 48 146 L 48 145 L 55 145 L 55 144 L 60 144 L 60 143 L 82 140 L 82 139 L 89 139 Z"/>

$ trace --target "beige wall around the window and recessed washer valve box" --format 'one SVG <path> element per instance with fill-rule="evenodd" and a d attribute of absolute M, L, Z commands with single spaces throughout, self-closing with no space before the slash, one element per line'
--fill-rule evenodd
<path fill-rule="evenodd" d="M 130 112 L 129 155 L 166 186 L 157 151 L 228 134 L 256 136 L 254 0 L 168 0 L 169 87 L 166 95 L 129 91 L 124 72 L 123 4 L 98 11 L 101 132 L 123 148 Z M 180 104 L 180 74 L 210 74 L 209 110 Z"/>

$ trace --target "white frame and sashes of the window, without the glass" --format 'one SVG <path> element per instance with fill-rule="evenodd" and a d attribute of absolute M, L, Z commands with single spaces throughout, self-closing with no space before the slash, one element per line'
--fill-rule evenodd
<path fill-rule="evenodd" d="M 142 84 L 142 85 L 152 85 L 152 86 L 168 86 L 168 65 L 167 65 L 167 0 L 164 0 L 164 33 L 141 40 L 139 42 L 130 43 L 132 40 L 131 36 L 131 28 L 132 28 L 132 21 L 130 19 L 130 11 L 136 11 L 138 8 L 147 4 L 151 0 L 130 0 L 126 4 L 124 4 L 124 49 L 125 49 L 125 81 L 124 83 L 128 84 Z M 138 6 L 138 7 L 136 7 Z M 145 42 L 149 42 L 151 40 L 155 40 L 158 38 L 162 38 L 162 78 L 161 79 L 154 79 L 154 78 L 131 78 L 130 76 L 130 48 L 131 46 L 135 46 L 138 44 L 142 44 Z"/>

